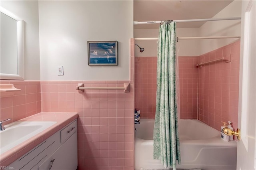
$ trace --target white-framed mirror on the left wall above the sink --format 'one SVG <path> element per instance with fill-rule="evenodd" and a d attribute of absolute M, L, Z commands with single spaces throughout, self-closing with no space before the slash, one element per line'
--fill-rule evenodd
<path fill-rule="evenodd" d="M 24 79 L 24 21 L 0 7 L 0 79 Z"/>

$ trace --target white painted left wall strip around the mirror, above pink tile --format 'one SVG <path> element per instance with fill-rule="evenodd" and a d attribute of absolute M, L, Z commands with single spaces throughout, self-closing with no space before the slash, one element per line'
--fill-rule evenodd
<path fill-rule="evenodd" d="M 24 79 L 40 79 L 38 1 L 1 0 L 1 6 L 24 20 Z"/>

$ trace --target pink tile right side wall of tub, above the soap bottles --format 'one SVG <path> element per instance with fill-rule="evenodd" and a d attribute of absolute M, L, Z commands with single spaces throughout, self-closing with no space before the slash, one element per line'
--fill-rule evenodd
<path fill-rule="evenodd" d="M 231 55 L 231 62 L 218 61 L 199 68 L 198 119 L 220 130 L 221 121 L 238 124 L 240 41 L 199 56 L 199 63 Z"/>

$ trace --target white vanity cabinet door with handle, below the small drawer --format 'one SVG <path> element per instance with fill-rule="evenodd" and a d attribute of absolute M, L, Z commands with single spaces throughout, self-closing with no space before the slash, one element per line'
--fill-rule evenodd
<path fill-rule="evenodd" d="M 38 167 L 38 170 L 76 170 L 77 162 L 77 132 L 75 132 Z"/>

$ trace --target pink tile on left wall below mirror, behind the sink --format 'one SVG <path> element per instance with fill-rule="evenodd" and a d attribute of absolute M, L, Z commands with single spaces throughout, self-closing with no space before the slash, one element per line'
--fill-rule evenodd
<path fill-rule="evenodd" d="M 40 81 L 1 80 L 0 83 L 14 84 L 14 87 L 21 89 L 14 96 L 0 98 L 0 121 L 12 119 L 4 124 L 41 112 Z"/>

